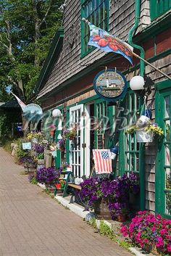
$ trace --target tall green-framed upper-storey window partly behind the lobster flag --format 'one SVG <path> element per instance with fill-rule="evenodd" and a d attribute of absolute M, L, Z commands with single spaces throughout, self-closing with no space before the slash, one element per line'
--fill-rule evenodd
<path fill-rule="evenodd" d="M 82 0 L 82 17 L 99 28 L 108 30 L 109 0 Z M 82 22 L 81 28 L 81 54 L 86 55 L 93 46 L 88 46 L 89 26 Z"/>

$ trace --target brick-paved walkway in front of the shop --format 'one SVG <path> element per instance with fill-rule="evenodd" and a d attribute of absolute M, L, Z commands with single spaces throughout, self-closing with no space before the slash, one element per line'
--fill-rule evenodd
<path fill-rule="evenodd" d="M 0 148 L 0 256 L 130 256 L 20 175 Z"/>

